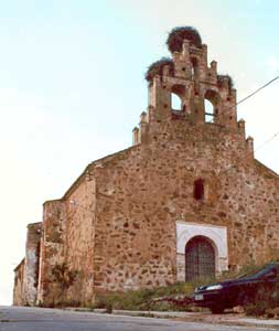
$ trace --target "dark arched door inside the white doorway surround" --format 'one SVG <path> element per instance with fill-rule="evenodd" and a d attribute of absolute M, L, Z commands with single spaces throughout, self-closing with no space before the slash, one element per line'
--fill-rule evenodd
<path fill-rule="evenodd" d="M 203 236 L 193 237 L 185 247 L 185 280 L 215 276 L 215 252 Z"/>

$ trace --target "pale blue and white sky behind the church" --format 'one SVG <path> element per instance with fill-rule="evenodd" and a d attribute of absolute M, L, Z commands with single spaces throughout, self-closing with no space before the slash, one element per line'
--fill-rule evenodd
<path fill-rule="evenodd" d="M 147 108 L 147 66 L 169 55 L 168 31 L 193 25 L 238 99 L 279 75 L 276 0 L 0 0 L 0 303 L 25 227 L 90 161 L 127 148 Z M 279 83 L 238 118 L 260 146 L 279 131 Z M 279 170 L 279 139 L 257 158 Z"/>

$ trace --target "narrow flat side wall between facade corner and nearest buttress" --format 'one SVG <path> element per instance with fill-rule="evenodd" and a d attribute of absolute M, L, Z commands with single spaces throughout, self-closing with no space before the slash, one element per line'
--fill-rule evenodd
<path fill-rule="evenodd" d="M 74 274 L 67 286 L 67 302 L 87 303 L 94 300 L 95 180 L 87 173 L 65 196 L 65 261 Z"/>

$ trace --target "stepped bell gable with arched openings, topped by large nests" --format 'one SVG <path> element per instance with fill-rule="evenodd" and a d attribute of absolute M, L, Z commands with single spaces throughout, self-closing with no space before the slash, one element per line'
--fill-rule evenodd
<path fill-rule="evenodd" d="M 167 45 L 172 56 L 154 62 L 146 74 L 149 106 L 147 114 L 141 115 L 139 130 L 135 130 L 135 143 L 144 142 L 160 122 L 172 120 L 239 128 L 233 81 L 217 73 L 216 61 L 207 64 L 207 46 L 198 32 L 191 26 L 174 28 Z M 180 100 L 176 109 L 174 98 Z"/>

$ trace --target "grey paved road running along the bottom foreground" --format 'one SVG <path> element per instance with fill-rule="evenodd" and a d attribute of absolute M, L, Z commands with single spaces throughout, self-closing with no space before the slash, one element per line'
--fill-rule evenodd
<path fill-rule="evenodd" d="M 272 328 L 213 325 L 58 309 L 0 307 L 0 331 L 227 331 Z M 277 329 L 278 330 L 278 329 Z"/>

